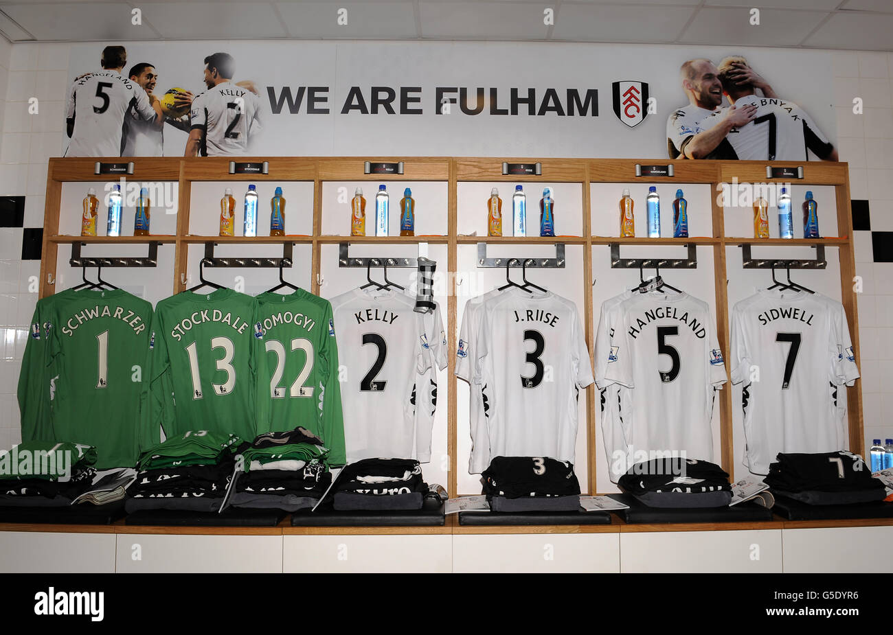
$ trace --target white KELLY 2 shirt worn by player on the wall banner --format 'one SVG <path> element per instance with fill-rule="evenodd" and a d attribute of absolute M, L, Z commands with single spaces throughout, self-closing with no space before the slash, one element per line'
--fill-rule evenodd
<path fill-rule="evenodd" d="M 189 114 L 193 130 L 204 130 L 202 156 L 246 154 L 261 129 L 261 98 L 247 88 L 223 82 L 198 95 Z"/>

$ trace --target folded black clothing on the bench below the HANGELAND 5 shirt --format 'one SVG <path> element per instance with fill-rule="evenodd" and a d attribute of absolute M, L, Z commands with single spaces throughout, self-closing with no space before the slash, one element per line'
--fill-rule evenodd
<path fill-rule="evenodd" d="M 731 491 L 729 474 L 709 461 L 695 458 L 653 458 L 630 467 L 617 481 L 622 491 L 697 493 Z"/>

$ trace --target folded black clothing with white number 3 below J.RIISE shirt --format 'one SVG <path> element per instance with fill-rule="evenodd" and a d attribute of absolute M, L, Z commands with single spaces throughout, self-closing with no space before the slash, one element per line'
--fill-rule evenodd
<path fill-rule="evenodd" d="M 580 482 L 569 461 L 546 457 L 496 457 L 481 474 L 488 499 L 580 494 Z"/>

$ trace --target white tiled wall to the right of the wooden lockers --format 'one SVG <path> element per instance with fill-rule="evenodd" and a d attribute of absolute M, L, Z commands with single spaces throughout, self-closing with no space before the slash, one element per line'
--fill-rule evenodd
<path fill-rule="evenodd" d="M 867 199 L 872 231 L 893 231 L 893 54 L 833 54 L 840 160 L 850 165 L 850 194 Z M 853 112 L 855 97 L 864 113 Z M 865 447 L 893 437 L 893 262 L 873 262 L 869 232 L 855 232 L 859 296 L 860 369 Z M 882 413 L 887 413 L 883 416 Z M 886 423 L 885 423 L 886 422 Z"/>

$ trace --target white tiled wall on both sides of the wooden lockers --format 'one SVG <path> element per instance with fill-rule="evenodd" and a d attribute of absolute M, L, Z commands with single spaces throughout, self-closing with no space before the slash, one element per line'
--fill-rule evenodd
<path fill-rule="evenodd" d="M 893 54 L 837 52 L 832 56 L 838 144 L 850 164 L 852 198 L 871 204 L 872 229 L 893 230 Z M 26 194 L 25 227 L 42 227 L 46 160 L 63 149 L 63 109 L 69 46 L 9 45 L 0 37 L 0 195 Z M 827 81 L 828 78 L 816 78 Z M 29 98 L 38 113 L 29 114 Z M 853 113 L 861 97 L 864 112 Z M 804 104 L 807 105 L 808 104 Z M 19 441 L 15 399 L 21 353 L 37 293 L 29 290 L 38 261 L 21 261 L 20 228 L 0 228 L 0 448 Z M 865 437 L 893 437 L 881 413 L 893 411 L 893 263 L 873 263 L 871 236 L 857 232 Z"/>

